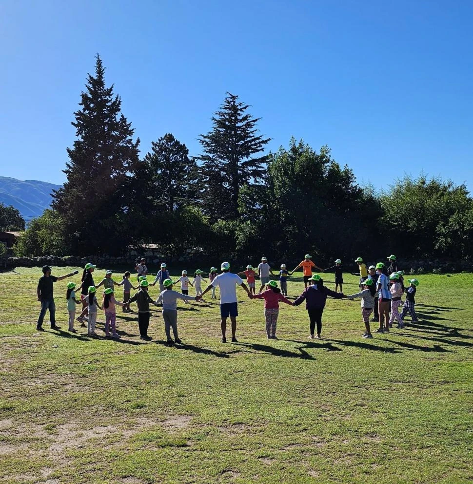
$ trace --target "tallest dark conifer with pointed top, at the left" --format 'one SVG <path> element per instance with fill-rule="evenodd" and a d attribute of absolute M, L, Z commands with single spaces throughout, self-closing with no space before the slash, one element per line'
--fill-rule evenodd
<path fill-rule="evenodd" d="M 118 253 L 130 243 L 120 225 L 130 208 L 127 194 L 139 163 L 139 139 L 133 141 L 134 129 L 121 113 L 113 84 L 105 85 L 104 72 L 98 55 L 95 76 L 88 75 L 74 113 L 77 140 L 67 149 L 67 182 L 53 194 L 70 250 L 83 255 Z"/>

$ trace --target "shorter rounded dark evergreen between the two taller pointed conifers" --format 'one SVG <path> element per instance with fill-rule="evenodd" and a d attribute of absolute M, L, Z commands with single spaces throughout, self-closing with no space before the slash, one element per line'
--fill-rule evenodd
<path fill-rule="evenodd" d="M 174 212 L 196 198 L 197 163 L 189 159 L 187 147 L 171 133 L 151 146 L 144 158 L 150 196 L 159 209 Z"/>

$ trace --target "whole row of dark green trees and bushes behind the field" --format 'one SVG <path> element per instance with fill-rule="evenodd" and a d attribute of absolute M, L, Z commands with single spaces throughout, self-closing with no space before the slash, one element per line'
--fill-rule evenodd
<path fill-rule="evenodd" d="M 424 175 L 386 191 L 360 187 L 330 148 L 292 138 L 264 154 L 250 106 L 227 93 L 198 140 L 166 133 L 143 158 L 139 138 L 105 84 L 99 56 L 72 122 L 67 181 L 20 237 L 20 255 L 123 254 L 157 244 L 165 257 L 347 259 L 358 253 L 471 256 L 473 201 L 465 185 Z"/>

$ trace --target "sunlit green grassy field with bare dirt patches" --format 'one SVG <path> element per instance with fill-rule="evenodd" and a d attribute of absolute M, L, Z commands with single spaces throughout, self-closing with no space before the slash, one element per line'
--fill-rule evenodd
<path fill-rule="evenodd" d="M 371 340 L 359 300 L 328 301 L 320 341 L 303 306 L 281 305 L 268 340 L 262 301 L 238 289 L 235 344 L 219 341 L 215 301 L 181 303 L 177 347 L 164 346 L 158 311 L 151 342 L 121 312 L 120 340 L 67 333 L 70 279 L 55 285 L 62 329 L 46 316 L 38 333 L 39 275 L 0 274 L 1 483 L 473 479 L 472 274 L 418 276 L 420 322 Z M 357 278 L 345 281 L 355 293 Z M 289 294 L 302 287 L 291 279 Z"/>

